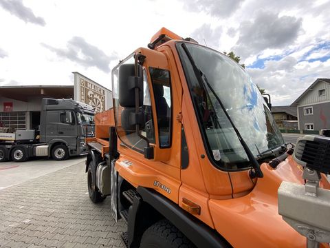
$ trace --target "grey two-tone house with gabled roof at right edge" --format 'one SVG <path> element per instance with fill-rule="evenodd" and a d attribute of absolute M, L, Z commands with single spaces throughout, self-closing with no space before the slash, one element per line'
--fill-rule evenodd
<path fill-rule="evenodd" d="M 316 79 L 291 106 L 297 108 L 299 130 L 330 129 L 330 79 Z"/>

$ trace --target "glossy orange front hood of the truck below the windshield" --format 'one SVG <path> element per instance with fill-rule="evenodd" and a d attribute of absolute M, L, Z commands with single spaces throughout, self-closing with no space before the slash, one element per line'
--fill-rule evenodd
<path fill-rule="evenodd" d="M 214 226 L 233 247 L 306 247 L 300 236 L 278 214 L 277 191 L 282 181 L 303 183 L 302 168 L 292 156 L 272 169 L 261 165 L 259 178 L 250 194 L 230 200 L 209 200 Z M 330 188 L 323 176 L 321 187 Z"/>

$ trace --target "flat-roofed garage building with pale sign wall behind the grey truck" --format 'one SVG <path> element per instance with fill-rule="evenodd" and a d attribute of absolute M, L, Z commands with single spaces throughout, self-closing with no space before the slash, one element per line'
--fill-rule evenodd
<path fill-rule="evenodd" d="M 13 85 L 0 87 L 0 126 L 15 130 L 37 129 L 41 99 L 74 99 L 97 112 L 112 107 L 111 91 L 83 74 L 74 72 L 74 85 Z"/>

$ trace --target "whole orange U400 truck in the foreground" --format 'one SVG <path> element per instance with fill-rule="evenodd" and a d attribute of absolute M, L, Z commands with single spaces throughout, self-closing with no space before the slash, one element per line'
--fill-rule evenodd
<path fill-rule="evenodd" d="M 277 196 L 303 169 L 238 63 L 162 28 L 113 68 L 112 89 L 86 172 L 91 200 L 111 197 L 126 221 L 126 247 L 306 246 Z"/>

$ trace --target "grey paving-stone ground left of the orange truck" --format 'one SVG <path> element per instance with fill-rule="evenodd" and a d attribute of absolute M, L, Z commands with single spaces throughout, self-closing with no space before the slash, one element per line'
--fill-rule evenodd
<path fill-rule="evenodd" d="M 0 191 L 0 247 L 122 247 L 110 199 L 88 196 L 85 162 Z"/>

